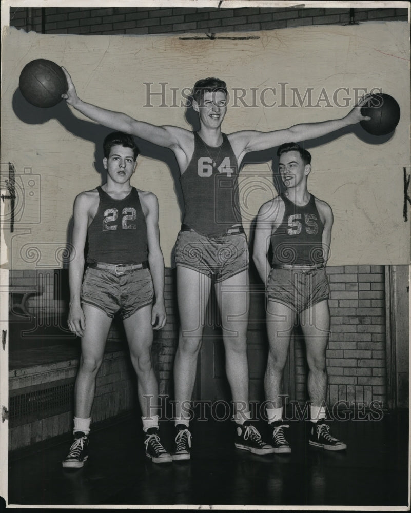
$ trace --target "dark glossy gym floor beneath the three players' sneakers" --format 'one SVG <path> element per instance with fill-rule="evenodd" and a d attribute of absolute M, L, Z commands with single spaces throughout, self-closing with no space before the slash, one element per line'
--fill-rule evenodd
<path fill-rule="evenodd" d="M 162 421 L 171 448 L 172 424 Z M 234 448 L 227 422 L 193 422 L 189 462 L 156 465 L 144 455 L 135 415 L 90 433 L 84 468 L 64 470 L 70 441 L 11 455 L 9 504 L 22 505 L 338 505 L 405 506 L 408 412 L 380 421 L 333 422 L 348 449 L 307 446 L 306 426 L 290 422 L 291 455 L 253 456 Z"/>

